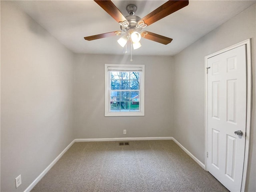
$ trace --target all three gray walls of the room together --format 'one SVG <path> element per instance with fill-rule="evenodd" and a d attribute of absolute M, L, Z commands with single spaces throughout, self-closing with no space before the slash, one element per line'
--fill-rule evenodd
<path fill-rule="evenodd" d="M 134 56 L 145 64 L 145 116 L 104 117 L 104 64 L 130 57 L 73 54 L 1 1 L 1 191 L 24 191 L 74 138 L 173 136 L 204 163 L 204 57 L 252 38 L 255 84 L 255 15 L 254 4 L 174 57 Z M 247 191 L 256 191 L 255 99 L 254 89 Z"/>

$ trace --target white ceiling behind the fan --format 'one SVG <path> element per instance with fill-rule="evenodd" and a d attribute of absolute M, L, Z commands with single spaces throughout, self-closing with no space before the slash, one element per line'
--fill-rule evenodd
<path fill-rule="evenodd" d="M 140 18 L 164 2 L 166 1 L 113 1 L 124 16 L 128 16 L 126 6 L 135 4 L 138 7 L 135 15 Z M 145 29 L 172 38 L 170 44 L 164 45 L 142 38 L 140 41 L 142 47 L 134 50 L 133 54 L 175 55 L 255 2 L 254 0 L 190 0 L 185 8 Z M 123 48 L 117 43 L 120 36 L 93 41 L 84 40 L 85 36 L 120 30 L 118 22 L 92 0 L 25 0 L 15 3 L 75 53 L 123 54 Z"/>

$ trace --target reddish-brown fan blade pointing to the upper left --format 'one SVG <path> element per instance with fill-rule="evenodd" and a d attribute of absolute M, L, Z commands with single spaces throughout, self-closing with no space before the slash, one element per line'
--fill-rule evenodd
<path fill-rule="evenodd" d="M 123 14 L 118 10 L 118 8 L 114 5 L 114 3 L 110 0 L 94 0 L 102 9 L 104 9 L 112 18 L 114 18 L 117 22 L 126 21 L 126 18 Z"/>

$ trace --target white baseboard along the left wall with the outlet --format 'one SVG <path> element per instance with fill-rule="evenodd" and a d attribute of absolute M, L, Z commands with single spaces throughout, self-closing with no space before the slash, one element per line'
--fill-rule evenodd
<path fill-rule="evenodd" d="M 24 190 L 24 192 L 30 192 L 34 186 L 43 178 L 43 176 L 54 166 L 54 164 L 62 157 L 62 155 L 72 146 L 74 140 L 46 167 L 45 170 Z"/>

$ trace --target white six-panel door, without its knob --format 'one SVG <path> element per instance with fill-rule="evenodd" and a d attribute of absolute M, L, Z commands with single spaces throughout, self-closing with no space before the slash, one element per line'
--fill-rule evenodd
<path fill-rule="evenodd" d="M 240 191 L 246 134 L 246 46 L 208 58 L 208 171 Z M 241 130 L 242 136 L 234 132 Z"/>

